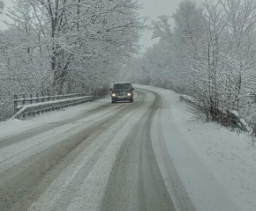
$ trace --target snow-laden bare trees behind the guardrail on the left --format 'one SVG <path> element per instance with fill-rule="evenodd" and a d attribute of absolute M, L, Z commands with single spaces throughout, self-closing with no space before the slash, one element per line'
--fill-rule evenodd
<path fill-rule="evenodd" d="M 1 76 L 20 93 L 94 91 L 139 50 L 133 0 L 13 0 L 0 40 Z M 6 81 L 6 80 L 5 80 Z M 1 84 L 3 87 L 4 84 Z M 13 91 L 11 91 L 13 93 Z"/>

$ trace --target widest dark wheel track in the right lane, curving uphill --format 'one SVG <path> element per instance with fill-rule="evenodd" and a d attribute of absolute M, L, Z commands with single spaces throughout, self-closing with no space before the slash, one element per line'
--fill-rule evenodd
<path fill-rule="evenodd" d="M 102 211 L 174 211 L 159 170 L 150 137 L 159 97 L 132 127 L 112 167 L 102 202 Z"/>

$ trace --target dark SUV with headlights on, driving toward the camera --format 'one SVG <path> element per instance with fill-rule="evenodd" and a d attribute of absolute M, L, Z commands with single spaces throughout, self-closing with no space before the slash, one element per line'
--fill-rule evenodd
<path fill-rule="evenodd" d="M 130 82 L 116 82 L 110 91 L 112 91 L 112 103 L 116 103 L 117 101 L 129 101 L 130 103 L 133 102 L 134 88 Z"/>

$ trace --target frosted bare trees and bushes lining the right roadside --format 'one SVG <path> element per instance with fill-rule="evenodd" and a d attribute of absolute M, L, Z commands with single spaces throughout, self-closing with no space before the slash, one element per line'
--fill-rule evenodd
<path fill-rule="evenodd" d="M 120 77 L 189 95 L 201 120 L 230 125 L 230 113 L 237 112 L 255 129 L 255 26 L 254 0 L 185 0 L 152 22 L 159 41 L 130 60 Z"/>

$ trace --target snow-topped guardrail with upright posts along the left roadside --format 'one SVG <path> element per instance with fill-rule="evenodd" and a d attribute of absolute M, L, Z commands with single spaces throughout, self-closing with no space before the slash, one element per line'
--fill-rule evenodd
<path fill-rule="evenodd" d="M 83 94 L 71 94 L 71 95 L 59 95 L 59 96 L 44 96 L 38 98 L 15 98 L 14 99 L 14 107 L 15 114 L 11 119 L 20 119 L 25 118 L 26 116 L 36 115 L 40 113 L 47 113 L 49 111 L 54 111 L 57 109 L 61 109 L 68 106 L 75 106 L 82 103 L 86 103 L 88 101 L 93 100 L 93 96 L 82 96 L 77 97 Z M 77 98 L 72 98 L 76 96 Z M 45 99 L 52 99 L 50 101 L 45 102 Z M 64 99 L 58 99 L 64 98 Z M 41 102 L 39 100 L 41 99 Z M 33 100 L 35 103 L 33 104 Z M 25 105 L 25 103 L 29 101 L 31 104 Z M 21 106 L 18 106 L 18 103 L 22 102 Z"/>

